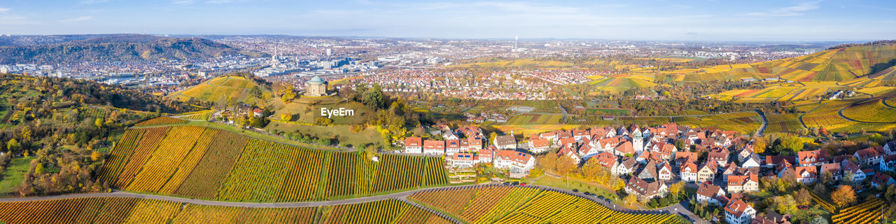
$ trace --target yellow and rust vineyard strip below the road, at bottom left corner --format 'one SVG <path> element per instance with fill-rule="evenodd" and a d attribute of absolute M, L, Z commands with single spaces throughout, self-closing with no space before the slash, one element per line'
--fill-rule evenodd
<path fill-rule="evenodd" d="M 0 202 L 4 223 L 451 223 L 387 199 L 323 207 L 248 208 L 124 197 Z"/>

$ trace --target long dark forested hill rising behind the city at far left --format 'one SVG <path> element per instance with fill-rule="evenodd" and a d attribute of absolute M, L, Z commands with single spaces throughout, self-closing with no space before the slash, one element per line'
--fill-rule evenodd
<path fill-rule="evenodd" d="M 0 64 L 81 63 L 96 61 L 164 61 L 242 54 L 235 47 L 199 38 L 150 35 L 99 36 L 57 44 L 0 47 Z"/>

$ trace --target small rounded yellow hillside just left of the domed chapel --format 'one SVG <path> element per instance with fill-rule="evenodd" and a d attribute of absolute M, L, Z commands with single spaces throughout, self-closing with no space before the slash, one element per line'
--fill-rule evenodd
<path fill-rule="evenodd" d="M 168 94 L 166 98 L 178 100 L 198 99 L 209 102 L 217 102 L 219 100 L 249 102 L 254 100 L 252 90 L 256 87 L 262 90 L 263 99 L 271 98 L 270 90 L 266 90 L 255 82 L 240 76 L 216 77 L 190 88 Z"/>

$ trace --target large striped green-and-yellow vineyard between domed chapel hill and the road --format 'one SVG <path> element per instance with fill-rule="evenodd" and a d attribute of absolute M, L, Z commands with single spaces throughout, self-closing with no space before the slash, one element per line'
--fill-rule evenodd
<path fill-rule="evenodd" d="M 441 158 L 383 154 L 375 162 L 193 125 L 128 129 L 99 175 L 128 191 L 233 202 L 327 200 L 447 179 Z"/>

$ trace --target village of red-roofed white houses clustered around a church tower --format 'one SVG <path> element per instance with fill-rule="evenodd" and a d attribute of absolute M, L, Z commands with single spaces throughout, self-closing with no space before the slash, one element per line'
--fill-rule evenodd
<path fill-rule="evenodd" d="M 478 166 L 502 169 L 509 181 L 529 176 L 539 166 L 539 155 L 556 153 L 556 158 L 564 158 L 560 161 L 576 167 L 599 164 L 621 177 L 624 193 L 635 195 L 639 202 L 663 198 L 670 185 L 684 183 L 687 188 L 695 188 L 692 199 L 722 208 L 719 217 L 734 224 L 790 223 L 791 215 L 773 210 L 763 214 L 754 208 L 756 202 L 745 197 L 761 192 L 761 185 L 771 185 L 762 182 L 840 183 L 852 185 L 859 192 L 866 185 L 879 189 L 896 184 L 884 174 L 896 168 L 896 141 L 844 155 L 829 155 L 819 149 L 763 156 L 754 151 L 753 141 L 735 131 L 702 130 L 675 123 L 595 126 L 530 136 L 510 132 L 492 134 L 491 139 L 473 125 L 434 128 L 442 133 L 436 137 L 439 140 L 407 137 L 401 152 L 444 156 L 452 170 Z"/>

